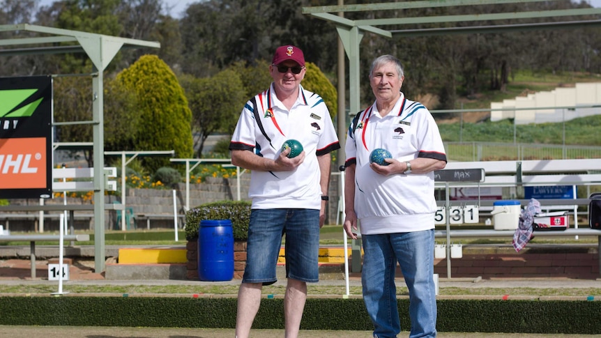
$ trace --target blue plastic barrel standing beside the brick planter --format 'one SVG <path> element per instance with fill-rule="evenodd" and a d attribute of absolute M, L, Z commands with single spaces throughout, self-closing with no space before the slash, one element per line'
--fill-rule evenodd
<path fill-rule="evenodd" d="M 198 277 L 220 282 L 234 278 L 234 230 L 230 220 L 201 220 L 198 227 Z"/>

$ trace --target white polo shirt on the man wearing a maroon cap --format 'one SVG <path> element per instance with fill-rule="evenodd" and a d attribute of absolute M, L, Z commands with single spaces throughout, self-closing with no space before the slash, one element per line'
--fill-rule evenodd
<path fill-rule="evenodd" d="M 252 170 L 248 192 L 252 208 L 321 209 L 317 155 L 335 151 L 340 144 L 328 107 L 316 93 L 300 86 L 298 98 L 288 111 L 271 84 L 267 91 L 246 102 L 229 149 L 254 151 L 275 159 L 288 139 L 300 141 L 305 160 L 293 171 Z"/>

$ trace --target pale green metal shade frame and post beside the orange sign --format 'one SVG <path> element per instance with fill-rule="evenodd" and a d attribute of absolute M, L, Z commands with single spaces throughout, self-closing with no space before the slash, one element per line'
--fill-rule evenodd
<path fill-rule="evenodd" d="M 1 39 L 0 56 L 84 52 L 93 63 L 95 68 L 95 72 L 91 75 L 93 121 L 80 123 L 91 124 L 93 130 L 94 268 L 96 272 L 101 272 L 105 270 L 104 91 L 102 90 L 104 82 L 102 73 L 119 50 L 143 47 L 160 48 L 160 43 L 33 24 L 0 25 L 0 32 L 40 34 L 40 37 L 34 38 Z M 58 43 L 73 43 L 73 45 L 55 46 Z M 32 45 L 36 47 L 15 47 Z"/>

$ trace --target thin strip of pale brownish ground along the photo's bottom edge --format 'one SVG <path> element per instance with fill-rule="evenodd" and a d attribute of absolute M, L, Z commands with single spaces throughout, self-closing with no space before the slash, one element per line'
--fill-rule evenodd
<path fill-rule="evenodd" d="M 116 328 L 98 326 L 3 326 L 1 338 L 234 338 L 233 329 L 207 328 Z M 253 330 L 253 338 L 284 337 L 283 330 Z M 371 338 L 370 331 L 330 331 L 301 330 L 299 338 Z M 409 337 L 409 332 L 401 332 L 399 338 Z M 466 333 L 439 332 L 439 338 L 583 338 L 601 335 L 538 335 L 525 333 Z"/>

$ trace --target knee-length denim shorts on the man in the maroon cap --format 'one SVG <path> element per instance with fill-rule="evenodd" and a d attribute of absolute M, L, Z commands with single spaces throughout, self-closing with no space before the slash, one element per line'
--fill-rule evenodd
<path fill-rule="evenodd" d="M 273 284 L 282 236 L 286 236 L 286 277 L 319 281 L 319 210 L 252 209 L 243 283 Z"/>

